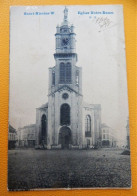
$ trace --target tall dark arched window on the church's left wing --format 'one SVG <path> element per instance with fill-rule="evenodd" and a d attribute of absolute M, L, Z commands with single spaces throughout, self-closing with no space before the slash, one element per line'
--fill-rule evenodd
<path fill-rule="evenodd" d="M 47 142 L 47 118 L 45 114 L 41 118 L 41 140 Z"/>

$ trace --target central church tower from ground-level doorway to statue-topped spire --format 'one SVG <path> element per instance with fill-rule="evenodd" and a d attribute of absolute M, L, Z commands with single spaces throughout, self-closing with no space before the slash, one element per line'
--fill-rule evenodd
<path fill-rule="evenodd" d="M 76 66 L 76 34 L 64 20 L 56 27 L 55 66 L 49 68 L 48 146 L 82 146 L 82 70 Z"/>

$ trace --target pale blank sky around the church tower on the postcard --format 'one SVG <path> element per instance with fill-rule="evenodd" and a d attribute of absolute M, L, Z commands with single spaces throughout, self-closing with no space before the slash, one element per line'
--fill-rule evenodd
<path fill-rule="evenodd" d="M 75 26 L 83 99 L 101 104 L 102 123 L 125 140 L 128 97 L 122 6 L 67 8 L 68 20 Z M 48 68 L 55 65 L 56 26 L 63 22 L 63 10 L 64 6 L 11 7 L 9 122 L 16 129 L 35 123 L 36 108 L 48 102 Z"/>

